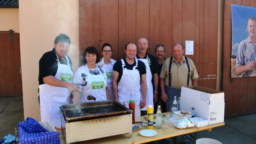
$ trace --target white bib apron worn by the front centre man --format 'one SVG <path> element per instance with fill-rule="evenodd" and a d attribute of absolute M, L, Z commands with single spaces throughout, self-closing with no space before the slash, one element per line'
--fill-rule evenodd
<path fill-rule="evenodd" d="M 118 83 L 118 100 L 121 104 L 129 108 L 130 100 L 135 103 L 135 117 L 140 117 L 140 72 L 138 71 L 138 60 L 135 59 L 136 65 L 132 70 L 125 68 L 124 59 L 121 59 L 123 66 L 123 75 Z"/>

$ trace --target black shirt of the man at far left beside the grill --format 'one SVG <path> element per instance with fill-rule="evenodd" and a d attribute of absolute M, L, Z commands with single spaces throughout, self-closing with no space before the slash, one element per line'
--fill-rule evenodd
<path fill-rule="evenodd" d="M 69 56 L 67 56 L 67 58 L 69 59 L 69 65 L 72 70 L 71 59 Z M 43 56 L 40 58 L 40 60 L 39 60 L 39 77 L 38 77 L 39 85 L 44 84 L 44 82 L 43 82 L 44 77 L 47 77 L 49 75 L 52 75 L 55 77 L 57 70 L 58 70 L 58 61 L 57 60 L 58 60 L 58 58 L 57 58 L 54 48 L 51 51 L 44 53 Z M 64 58 L 64 60 L 63 60 L 63 59 L 59 58 L 59 63 L 67 65 L 67 59 Z"/>

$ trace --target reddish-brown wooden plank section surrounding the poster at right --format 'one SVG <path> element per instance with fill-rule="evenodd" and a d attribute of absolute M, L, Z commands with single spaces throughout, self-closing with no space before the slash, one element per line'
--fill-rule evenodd
<path fill-rule="evenodd" d="M 227 117 L 256 112 L 256 77 L 231 78 L 231 4 L 256 7 L 256 1 L 226 0 L 224 3 L 223 92 Z"/>

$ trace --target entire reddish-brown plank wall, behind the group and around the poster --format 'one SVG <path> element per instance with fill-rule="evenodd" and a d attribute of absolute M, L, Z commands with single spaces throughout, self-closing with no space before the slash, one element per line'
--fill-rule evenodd
<path fill-rule="evenodd" d="M 127 42 L 149 39 L 149 53 L 163 43 L 166 57 L 174 43 L 194 41 L 191 58 L 199 73 L 198 85 L 216 89 L 218 0 L 80 0 L 79 41 L 81 53 L 88 46 L 101 51 L 113 47 L 116 60 L 125 56 Z M 224 1 L 223 92 L 225 117 L 256 112 L 256 77 L 231 79 L 231 3 L 256 6 L 253 0 Z"/>

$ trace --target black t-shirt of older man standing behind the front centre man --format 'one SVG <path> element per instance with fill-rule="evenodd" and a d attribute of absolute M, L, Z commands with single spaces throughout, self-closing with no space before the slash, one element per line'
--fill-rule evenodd
<path fill-rule="evenodd" d="M 158 63 L 157 63 L 157 60 L 155 58 L 155 56 L 151 55 L 151 54 L 148 54 L 146 53 L 146 56 L 143 58 L 143 59 L 147 59 L 147 56 L 148 56 L 148 64 L 149 64 L 149 67 L 150 67 L 150 72 L 152 74 L 152 85 L 153 85 L 153 90 L 155 89 L 154 88 L 154 74 L 155 73 L 160 73 L 160 69 L 159 69 L 159 66 L 158 66 Z M 138 55 L 136 55 L 136 57 L 139 59 L 140 57 Z"/>

